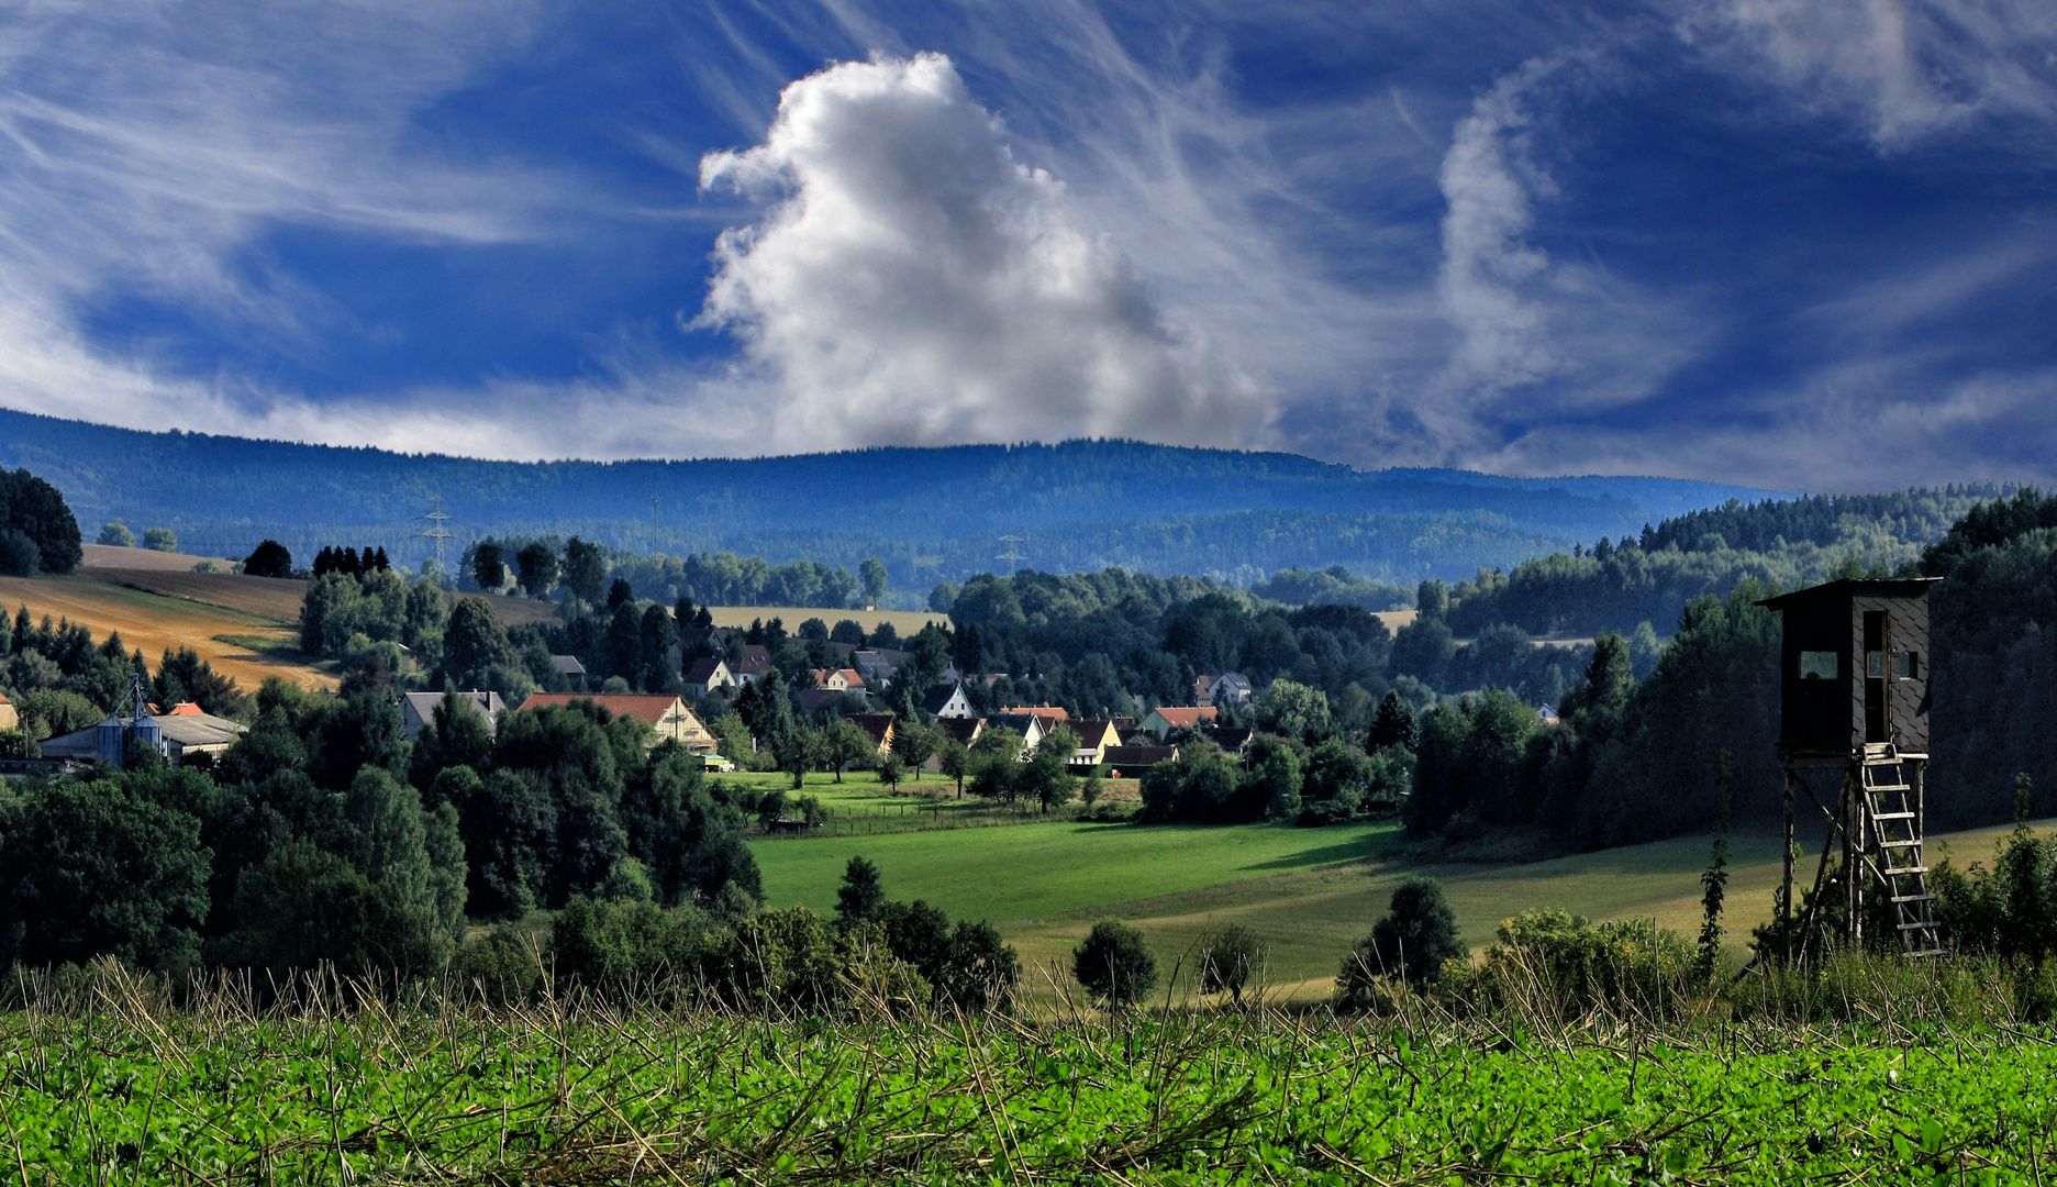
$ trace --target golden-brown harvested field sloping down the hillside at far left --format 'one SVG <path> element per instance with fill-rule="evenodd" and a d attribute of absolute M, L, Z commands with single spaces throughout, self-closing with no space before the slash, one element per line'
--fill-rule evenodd
<path fill-rule="evenodd" d="M 255 691 L 265 677 L 284 677 L 302 687 L 335 683 L 335 677 L 315 669 L 296 652 L 298 630 L 278 617 L 123 586 L 103 580 L 97 570 L 80 572 L 84 576 L 0 578 L 0 605 L 10 615 L 16 607 L 29 607 L 29 615 L 39 621 L 49 615 L 84 623 L 95 642 L 105 640 L 109 632 L 121 632 L 121 642 L 130 650 L 142 648 L 152 664 L 165 648 L 189 646 L 212 662 L 214 671 L 234 677 L 245 691 Z M 146 576 L 183 580 L 206 574 Z M 263 582 L 237 576 L 214 580 Z M 298 603 L 294 611 L 298 613 Z"/>

